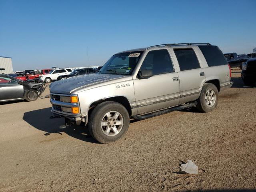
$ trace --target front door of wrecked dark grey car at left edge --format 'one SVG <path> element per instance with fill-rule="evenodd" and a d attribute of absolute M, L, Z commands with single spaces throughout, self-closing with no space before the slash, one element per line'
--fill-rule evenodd
<path fill-rule="evenodd" d="M 18 80 L 0 77 L 0 100 L 20 99 L 24 96 L 23 85 Z"/>

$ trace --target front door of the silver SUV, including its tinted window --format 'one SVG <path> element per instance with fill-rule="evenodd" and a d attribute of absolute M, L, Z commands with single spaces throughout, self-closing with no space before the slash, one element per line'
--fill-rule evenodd
<path fill-rule="evenodd" d="M 147 79 L 134 79 L 138 114 L 176 106 L 180 102 L 180 82 L 166 49 L 152 50 L 146 55 L 141 70 L 152 70 Z"/>

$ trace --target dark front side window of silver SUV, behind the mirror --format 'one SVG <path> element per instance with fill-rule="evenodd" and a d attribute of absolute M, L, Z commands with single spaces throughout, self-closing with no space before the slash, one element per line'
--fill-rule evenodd
<path fill-rule="evenodd" d="M 166 49 L 148 52 L 140 70 L 152 70 L 153 75 L 174 72 L 171 58 Z"/>

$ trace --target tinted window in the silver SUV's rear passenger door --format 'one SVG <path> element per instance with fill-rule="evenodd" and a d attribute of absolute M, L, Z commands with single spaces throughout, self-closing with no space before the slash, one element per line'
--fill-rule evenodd
<path fill-rule="evenodd" d="M 174 49 L 174 53 L 180 65 L 181 71 L 200 68 L 200 64 L 192 48 Z"/>

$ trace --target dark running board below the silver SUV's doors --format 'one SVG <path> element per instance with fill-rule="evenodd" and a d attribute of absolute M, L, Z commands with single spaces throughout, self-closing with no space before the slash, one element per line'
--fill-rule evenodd
<path fill-rule="evenodd" d="M 166 113 L 169 113 L 169 112 L 172 112 L 172 111 L 178 111 L 178 110 L 186 109 L 186 108 L 193 107 L 193 106 L 196 106 L 196 105 L 197 105 L 197 102 L 192 101 L 188 104 L 184 104 L 184 105 L 180 105 L 180 106 L 177 106 L 177 107 L 165 109 L 165 110 L 162 110 L 162 111 L 153 112 L 153 113 L 150 113 L 150 114 L 134 115 L 134 116 L 132 116 L 132 118 L 134 118 L 136 120 L 143 120 L 143 119 L 159 116 L 159 115 L 162 115 L 162 114 L 166 114 Z"/>

